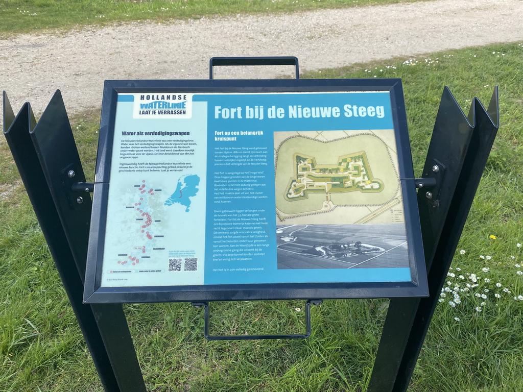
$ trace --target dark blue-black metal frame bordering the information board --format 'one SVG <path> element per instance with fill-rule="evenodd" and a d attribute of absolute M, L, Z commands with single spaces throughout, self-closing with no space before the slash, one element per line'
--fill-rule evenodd
<path fill-rule="evenodd" d="M 225 65 L 225 64 L 223 64 Z M 116 102 L 120 93 L 389 91 L 411 268 L 410 282 L 100 287 Z M 401 79 L 109 80 L 104 89 L 84 303 L 207 302 L 427 296 L 422 236 Z"/>

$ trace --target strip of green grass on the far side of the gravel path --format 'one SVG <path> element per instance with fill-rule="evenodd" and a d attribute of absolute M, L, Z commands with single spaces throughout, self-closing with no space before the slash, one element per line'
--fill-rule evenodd
<path fill-rule="evenodd" d="M 7 33 L 151 19 L 281 13 L 423 0 L 0 0 L 0 38 Z M 425 0 L 426 1 L 426 0 Z"/>

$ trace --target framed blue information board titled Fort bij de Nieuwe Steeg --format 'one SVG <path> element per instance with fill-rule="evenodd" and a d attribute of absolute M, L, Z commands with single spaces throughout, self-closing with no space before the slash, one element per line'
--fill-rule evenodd
<path fill-rule="evenodd" d="M 85 302 L 413 295 L 399 79 L 106 82 Z"/>

